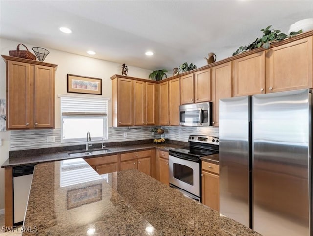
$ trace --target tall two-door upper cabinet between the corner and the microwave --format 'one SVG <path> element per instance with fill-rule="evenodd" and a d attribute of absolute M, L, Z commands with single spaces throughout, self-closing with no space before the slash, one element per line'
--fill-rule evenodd
<path fill-rule="evenodd" d="M 179 125 L 179 78 L 160 83 L 160 125 Z"/>

